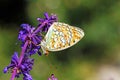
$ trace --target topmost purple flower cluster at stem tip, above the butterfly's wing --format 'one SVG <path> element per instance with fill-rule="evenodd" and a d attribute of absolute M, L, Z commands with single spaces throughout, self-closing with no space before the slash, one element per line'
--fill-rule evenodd
<path fill-rule="evenodd" d="M 44 16 L 45 18 L 37 18 L 39 21 L 38 27 L 41 27 L 41 24 L 44 24 L 44 26 L 41 27 L 41 31 L 47 32 L 52 23 L 57 22 L 57 16 L 53 14 L 49 16 L 48 13 L 44 13 Z"/>

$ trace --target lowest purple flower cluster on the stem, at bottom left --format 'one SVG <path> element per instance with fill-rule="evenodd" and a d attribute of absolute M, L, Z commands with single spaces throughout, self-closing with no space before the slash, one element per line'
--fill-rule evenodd
<path fill-rule="evenodd" d="M 12 56 L 11 63 L 4 68 L 3 72 L 7 73 L 8 70 L 11 70 L 12 72 L 16 70 L 15 77 L 19 78 L 20 74 L 23 74 L 23 80 L 32 80 L 29 72 L 32 70 L 34 59 L 30 59 L 27 55 L 25 55 L 20 66 L 18 66 L 18 62 L 18 53 L 15 52 Z"/>

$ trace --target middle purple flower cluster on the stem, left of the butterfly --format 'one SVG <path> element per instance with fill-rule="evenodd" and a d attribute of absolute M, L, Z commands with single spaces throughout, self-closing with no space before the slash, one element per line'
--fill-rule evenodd
<path fill-rule="evenodd" d="M 39 44 L 42 40 L 42 37 L 39 33 L 34 33 L 34 31 L 35 27 L 32 27 L 29 24 L 22 24 L 21 30 L 19 31 L 18 39 L 22 42 L 22 47 L 25 42 L 28 41 L 26 53 L 32 55 L 37 52 L 39 55 L 41 55 L 39 51 L 41 47 Z"/>

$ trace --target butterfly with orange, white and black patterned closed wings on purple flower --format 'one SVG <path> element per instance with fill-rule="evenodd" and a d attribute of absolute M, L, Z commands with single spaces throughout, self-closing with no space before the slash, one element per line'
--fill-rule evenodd
<path fill-rule="evenodd" d="M 73 46 L 83 36 L 84 31 L 81 28 L 70 26 L 66 23 L 54 22 L 40 45 L 43 53 L 47 55 L 50 51 L 61 51 Z"/>

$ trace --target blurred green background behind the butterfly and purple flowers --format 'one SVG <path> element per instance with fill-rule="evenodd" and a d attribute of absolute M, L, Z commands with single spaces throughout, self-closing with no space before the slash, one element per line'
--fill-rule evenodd
<path fill-rule="evenodd" d="M 36 26 L 44 12 L 82 28 L 85 36 L 69 49 L 32 56 L 34 80 L 52 73 L 58 80 L 120 80 L 120 0 L 0 0 L 0 80 L 9 80 L 2 70 L 20 52 L 20 24 Z"/>

